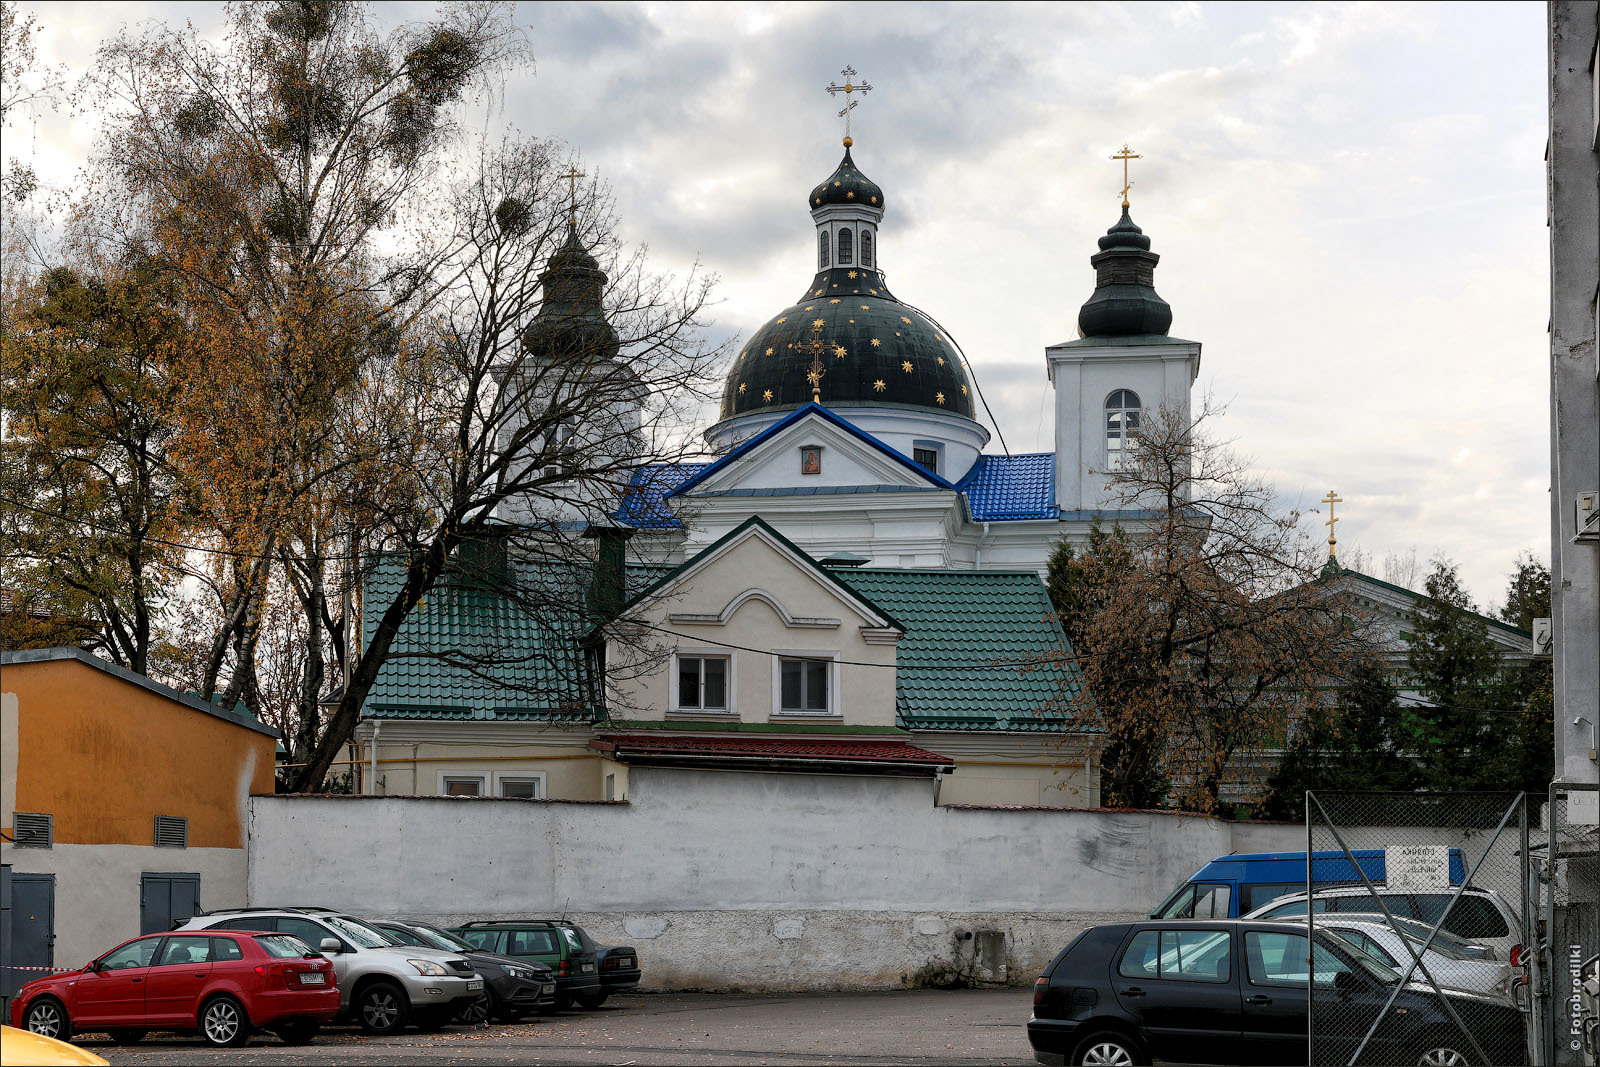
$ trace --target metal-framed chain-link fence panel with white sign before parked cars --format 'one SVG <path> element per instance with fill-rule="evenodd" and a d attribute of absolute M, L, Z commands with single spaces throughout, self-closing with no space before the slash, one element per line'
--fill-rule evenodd
<path fill-rule="evenodd" d="M 1315 945 L 1312 1064 L 1542 1062 L 1522 793 L 1312 792 L 1306 845 L 1306 888 L 1275 907 Z"/>

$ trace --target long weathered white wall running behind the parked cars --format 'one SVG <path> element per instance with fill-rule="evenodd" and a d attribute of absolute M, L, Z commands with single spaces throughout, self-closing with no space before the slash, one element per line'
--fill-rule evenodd
<path fill-rule="evenodd" d="M 1026 982 L 1083 926 L 1149 913 L 1298 825 L 934 808 L 931 782 L 634 768 L 627 805 L 258 797 L 250 902 L 456 923 L 566 912 L 658 989 Z M 1005 958 L 979 966 L 979 939 Z M 1005 965 L 1005 974 L 998 971 Z"/>

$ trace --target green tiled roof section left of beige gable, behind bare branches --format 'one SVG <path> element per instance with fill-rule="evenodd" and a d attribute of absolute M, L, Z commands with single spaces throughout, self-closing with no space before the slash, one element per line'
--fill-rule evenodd
<path fill-rule="evenodd" d="M 502 566 L 517 589 L 541 590 L 539 601 L 574 605 L 570 616 L 531 608 L 459 571 L 429 590 L 400 627 L 389 659 L 366 696 L 374 718 L 528 720 L 592 718 L 584 701 L 579 637 L 582 584 L 523 560 Z M 405 581 L 405 558 L 386 555 L 366 579 L 363 638 Z M 555 595 L 550 595 L 555 593 Z"/>

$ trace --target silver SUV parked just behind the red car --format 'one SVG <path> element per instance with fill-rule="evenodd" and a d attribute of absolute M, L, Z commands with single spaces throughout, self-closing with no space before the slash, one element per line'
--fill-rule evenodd
<path fill-rule="evenodd" d="M 483 995 L 483 979 L 459 952 L 397 945 L 354 915 L 325 907 L 237 907 L 195 915 L 178 929 L 275 929 L 333 961 L 339 1006 L 368 1033 L 408 1021 L 438 1027 Z"/>

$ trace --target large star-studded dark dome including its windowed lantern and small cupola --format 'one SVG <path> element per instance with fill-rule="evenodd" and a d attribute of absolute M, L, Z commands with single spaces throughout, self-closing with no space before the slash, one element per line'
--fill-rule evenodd
<path fill-rule="evenodd" d="M 723 386 L 722 418 L 816 398 L 829 408 L 920 408 L 976 419 L 976 394 L 955 342 L 883 282 L 877 248 L 883 190 L 861 176 L 848 144 L 808 206 L 818 272 L 800 299 L 739 349 Z"/>

